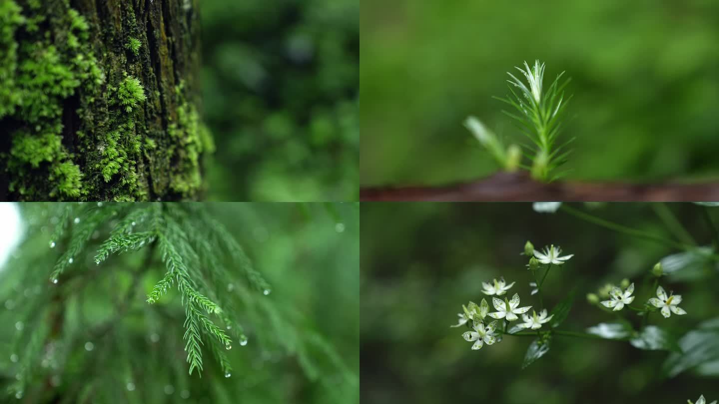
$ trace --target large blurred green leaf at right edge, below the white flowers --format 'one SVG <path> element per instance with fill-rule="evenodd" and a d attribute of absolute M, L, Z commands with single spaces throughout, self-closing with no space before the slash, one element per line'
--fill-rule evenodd
<path fill-rule="evenodd" d="M 679 339 L 679 347 L 683 353 L 670 354 L 661 367 L 666 377 L 675 377 L 688 369 L 719 361 L 719 318 L 705 321 L 698 329 L 684 334 Z"/>

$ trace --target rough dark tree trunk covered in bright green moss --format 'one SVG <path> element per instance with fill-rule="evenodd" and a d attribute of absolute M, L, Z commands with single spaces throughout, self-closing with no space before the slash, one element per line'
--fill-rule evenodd
<path fill-rule="evenodd" d="M 0 0 L 0 198 L 197 198 L 197 0 Z"/>

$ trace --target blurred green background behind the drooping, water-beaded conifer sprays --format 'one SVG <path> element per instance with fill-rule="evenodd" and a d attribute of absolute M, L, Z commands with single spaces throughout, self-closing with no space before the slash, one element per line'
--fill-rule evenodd
<path fill-rule="evenodd" d="M 209 350 L 203 353 L 201 375 L 188 375 L 184 312 L 176 286 L 154 306 L 145 301 L 165 272 L 159 253 L 150 267 L 141 267 L 142 290 L 127 300 L 129 274 L 146 262 L 146 252 L 113 255 L 95 265 L 93 256 L 107 237 L 102 228 L 71 269 L 82 281 L 48 282 L 62 252 L 59 246 L 47 247 L 53 231 L 50 216 L 58 211 L 52 205 L 20 205 L 23 225 L 30 226 L 6 265 L 0 262 L 0 403 L 359 402 L 356 203 L 203 203 L 272 285 L 270 295 L 249 293 L 238 263 L 217 257 L 237 271 L 237 282 L 234 288 L 212 287 L 238 308 L 241 318 L 236 320 L 249 338 L 247 346 L 237 344 L 226 352 L 233 368 L 229 378 Z M 45 302 L 58 288 L 63 299 Z M 63 331 L 57 339 L 40 341 L 47 352 L 42 366 L 32 364 L 24 401 L 15 400 L 6 387 L 22 372 L 23 352 L 31 344 L 28 335 L 36 331 L 27 318 L 47 322 L 52 317 L 45 315 L 46 308 L 58 304 L 67 307 Z M 127 313 L 107 334 L 93 337 L 98 324 L 115 318 L 118 305 L 127 305 Z M 85 341 L 94 344 L 92 352 L 83 349 Z M 132 391 L 127 380 L 134 382 Z M 78 395 L 85 387 L 92 400 Z"/>

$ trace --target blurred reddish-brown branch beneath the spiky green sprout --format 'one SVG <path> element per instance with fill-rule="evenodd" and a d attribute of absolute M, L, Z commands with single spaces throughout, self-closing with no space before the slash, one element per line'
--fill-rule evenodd
<path fill-rule="evenodd" d="M 362 188 L 360 201 L 719 201 L 719 182 L 698 184 L 538 183 L 526 173 L 498 173 L 438 187 Z"/>

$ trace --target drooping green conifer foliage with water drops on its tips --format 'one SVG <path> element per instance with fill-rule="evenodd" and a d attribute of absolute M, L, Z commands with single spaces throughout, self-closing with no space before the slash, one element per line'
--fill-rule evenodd
<path fill-rule="evenodd" d="M 113 392 L 101 387 L 99 375 L 80 384 L 64 380 L 68 369 L 102 366 L 103 377 L 121 381 L 127 402 L 188 399 L 196 380 L 207 380 L 209 389 L 216 377 L 247 376 L 233 372 L 231 354 L 250 339 L 265 359 L 278 348 L 296 357 L 310 380 L 327 371 L 342 375 L 344 385 L 356 382 L 301 313 L 274 301 L 270 284 L 207 205 L 24 203 L 29 223 L 22 253 L 0 272 L 0 285 L 16 285 L 0 286 L 5 308 L 22 313 L 9 343 L 9 372 L 0 370 L 9 395 L 32 403 L 124 402 L 110 400 Z M 42 244 L 47 247 L 26 248 Z M 2 343 L 0 333 L 4 351 Z M 135 353 L 148 343 L 162 348 L 148 357 Z M 151 369 L 164 369 L 157 373 L 171 380 L 160 393 L 141 384 Z M 205 397 L 229 400 L 217 388 Z M 153 394 L 160 399 L 150 401 Z"/>

